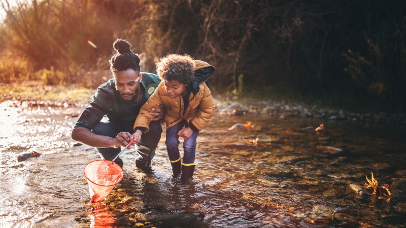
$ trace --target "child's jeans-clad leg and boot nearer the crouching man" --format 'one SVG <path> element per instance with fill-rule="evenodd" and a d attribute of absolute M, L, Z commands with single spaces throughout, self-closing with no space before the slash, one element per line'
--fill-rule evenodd
<path fill-rule="evenodd" d="M 172 172 L 174 177 L 179 176 L 181 173 L 181 159 L 179 153 L 179 135 L 178 132 L 185 126 L 182 121 L 168 129 L 166 129 L 166 149 L 168 151 L 168 158 L 172 165 Z"/>

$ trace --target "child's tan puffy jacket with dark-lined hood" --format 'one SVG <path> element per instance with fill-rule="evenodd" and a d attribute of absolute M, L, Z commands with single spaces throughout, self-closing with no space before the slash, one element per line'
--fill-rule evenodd
<path fill-rule="evenodd" d="M 199 60 L 195 60 L 195 65 L 195 77 L 192 85 L 198 87 L 192 89 L 196 93 L 191 92 L 189 95 L 189 105 L 186 107 L 185 114 L 183 114 L 185 107 L 182 97 L 170 97 L 165 90 L 163 82 L 161 82 L 154 94 L 141 107 L 133 129 L 144 127 L 146 128 L 144 133 L 149 131 L 149 123 L 151 118 L 154 118 L 149 112 L 153 107 L 156 107 L 156 104 L 163 104 L 165 106 L 164 120 L 166 128 L 186 120 L 189 124 L 193 124 L 197 130 L 201 131 L 209 123 L 216 107 L 213 103 L 212 93 L 205 81 L 213 75 L 215 69 L 210 64 Z M 199 73 L 196 74 L 197 72 Z"/>

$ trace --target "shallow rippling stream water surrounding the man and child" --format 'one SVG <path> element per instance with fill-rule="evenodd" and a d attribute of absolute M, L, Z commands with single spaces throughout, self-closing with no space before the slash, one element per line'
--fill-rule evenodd
<path fill-rule="evenodd" d="M 121 156 L 124 178 L 91 204 L 95 150 L 70 138 L 81 108 L 0 105 L 2 227 L 404 227 L 404 126 L 215 114 L 200 132 L 193 185 L 175 187 L 164 134 L 150 171 Z M 229 131 L 250 121 L 251 131 Z M 312 126 L 312 128 L 309 128 Z M 311 130 L 309 130 L 311 129 Z M 255 139 L 258 138 L 257 141 Z M 17 162 L 17 155 L 42 155 Z M 394 183 L 389 202 L 351 184 Z"/>

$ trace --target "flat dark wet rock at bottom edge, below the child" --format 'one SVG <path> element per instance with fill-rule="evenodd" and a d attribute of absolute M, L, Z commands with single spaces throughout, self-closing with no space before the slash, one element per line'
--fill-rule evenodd
<path fill-rule="evenodd" d="M 196 220 L 196 216 L 192 213 L 167 213 L 147 215 L 147 219 L 164 226 L 178 226 L 192 223 Z"/>

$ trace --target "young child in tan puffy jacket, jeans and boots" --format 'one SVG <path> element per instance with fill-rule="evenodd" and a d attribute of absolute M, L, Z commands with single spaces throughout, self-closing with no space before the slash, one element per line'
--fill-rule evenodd
<path fill-rule="evenodd" d="M 206 81 L 215 69 L 210 64 L 193 60 L 188 55 L 170 54 L 156 63 L 156 72 L 161 83 L 154 94 L 142 106 L 134 124 L 134 141 L 149 130 L 150 110 L 157 104 L 165 106 L 166 148 L 174 177 L 181 174 L 178 187 L 189 187 L 193 176 L 196 153 L 196 138 L 213 116 L 215 106 Z M 183 141 L 181 163 L 178 145 Z"/>

